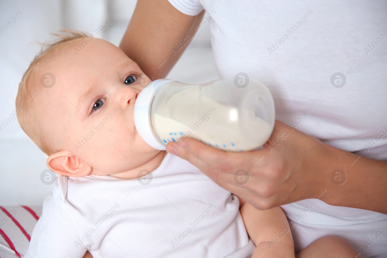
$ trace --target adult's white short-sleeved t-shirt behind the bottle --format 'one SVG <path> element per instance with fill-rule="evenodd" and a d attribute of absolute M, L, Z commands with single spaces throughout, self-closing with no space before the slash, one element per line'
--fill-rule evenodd
<path fill-rule="evenodd" d="M 276 119 L 333 147 L 387 161 L 386 1 L 169 1 L 187 15 L 206 10 L 200 26 L 210 21 L 219 77 L 243 72 L 263 82 Z M 296 251 L 337 234 L 363 257 L 387 257 L 387 232 L 368 238 L 387 230 L 387 215 L 305 202 L 283 206 L 291 221 L 313 205 L 292 229 Z"/>

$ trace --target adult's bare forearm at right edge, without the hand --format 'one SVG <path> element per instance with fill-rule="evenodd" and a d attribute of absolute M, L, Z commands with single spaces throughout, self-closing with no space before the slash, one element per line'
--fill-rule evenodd
<path fill-rule="evenodd" d="M 387 162 L 328 147 L 325 163 L 326 191 L 320 200 L 387 214 Z"/>

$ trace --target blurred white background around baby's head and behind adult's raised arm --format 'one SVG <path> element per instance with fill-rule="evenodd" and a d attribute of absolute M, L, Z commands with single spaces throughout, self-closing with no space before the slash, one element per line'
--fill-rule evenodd
<path fill-rule="evenodd" d="M 15 110 L 15 96 L 22 74 L 40 47 L 31 42 L 46 41 L 61 28 L 87 31 L 102 24 L 118 10 L 114 23 L 98 37 L 118 46 L 134 11 L 135 0 L 22 0 L 0 2 L 0 26 L 21 10 L 23 13 L 0 35 L 0 124 Z M 217 79 L 209 26 L 192 40 L 168 79 L 204 83 Z M 40 181 L 47 169 L 47 156 L 24 134 L 17 121 L 0 132 L 0 205 L 41 205 L 51 186 Z"/>

